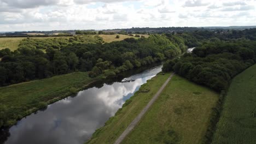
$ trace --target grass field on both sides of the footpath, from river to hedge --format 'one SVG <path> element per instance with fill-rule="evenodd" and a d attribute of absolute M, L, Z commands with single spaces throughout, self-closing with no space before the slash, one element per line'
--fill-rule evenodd
<path fill-rule="evenodd" d="M 168 76 L 170 74 L 158 75 L 143 85 L 142 88 L 150 91 L 136 93 L 88 143 L 113 143 Z M 217 100 L 218 93 L 174 76 L 123 143 L 201 143 Z"/>

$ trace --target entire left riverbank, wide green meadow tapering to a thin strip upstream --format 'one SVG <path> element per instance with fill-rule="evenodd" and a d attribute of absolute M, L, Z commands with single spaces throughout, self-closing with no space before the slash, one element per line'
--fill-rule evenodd
<path fill-rule="evenodd" d="M 48 79 L 34 80 L 0 87 L 0 128 L 10 127 L 33 112 L 44 109 L 70 95 L 75 95 L 88 87 L 103 86 L 105 83 L 121 81 L 124 76 L 141 73 L 148 68 L 156 67 L 161 63 L 144 65 L 143 67 L 119 73 L 111 79 L 100 75 L 89 77 L 89 72 L 75 72 L 53 76 Z M 92 84 L 92 85 L 90 85 Z"/>

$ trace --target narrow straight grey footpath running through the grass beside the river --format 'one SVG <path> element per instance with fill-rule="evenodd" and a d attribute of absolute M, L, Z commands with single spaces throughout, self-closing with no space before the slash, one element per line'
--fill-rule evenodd
<path fill-rule="evenodd" d="M 155 100 L 159 97 L 160 93 L 164 88 L 166 87 L 167 83 L 172 79 L 172 76 L 174 73 L 171 74 L 170 77 L 165 81 L 164 85 L 159 89 L 159 91 L 154 95 L 154 97 L 149 101 L 146 107 L 139 113 L 139 115 L 133 119 L 133 121 L 130 123 L 130 125 L 125 129 L 125 131 L 118 137 L 118 139 L 114 142 L 114 144 L 121 143 L 124 138 L 132 131 L 132 129 L 138 124 L 138 122 L 141 120 L 143 115 L 148 111 L 149 107 L 155 102 Z"/>

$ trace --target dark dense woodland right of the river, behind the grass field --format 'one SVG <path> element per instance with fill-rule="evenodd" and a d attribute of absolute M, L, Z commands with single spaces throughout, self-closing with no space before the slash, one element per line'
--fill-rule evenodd
<path fill-rule="evenodd" d="M 256 41 L 245 39 L 253 35 L 248 35 L 247 30 L 240 32 L 243 33 L 241 39 L 203 41 L 193 53 L 168 60 L 163 70 L 173 70 L 191 81 L 222 91 L 228 87 L 232 77 L 256 62 Z"/>

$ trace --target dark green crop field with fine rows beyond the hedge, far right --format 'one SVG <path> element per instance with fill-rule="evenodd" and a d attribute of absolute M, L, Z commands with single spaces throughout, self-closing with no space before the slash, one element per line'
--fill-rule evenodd
<path fill-rule="evenodd" d="M 255 71 L 253 65 L 232 80 L 212 143 L 256 142 Z"/>

